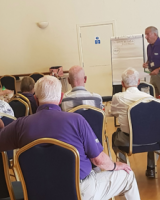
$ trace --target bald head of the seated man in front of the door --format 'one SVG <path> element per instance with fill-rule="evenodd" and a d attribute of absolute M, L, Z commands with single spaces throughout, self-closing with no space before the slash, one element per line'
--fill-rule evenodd
<path fill-rule="evenodd" d="M 80 66 L 73 66 L 69 70 L 69 83 L 72 88 L 77 86 L 85 86 L 86 76 L 84 73 L 84 69 Z"/>

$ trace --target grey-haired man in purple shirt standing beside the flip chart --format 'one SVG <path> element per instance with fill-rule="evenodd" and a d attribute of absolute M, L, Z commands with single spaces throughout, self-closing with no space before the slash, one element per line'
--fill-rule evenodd
<path fill-rule="evenodd" d="M 149 45 L 147 46 L 148 59 L 143 67 L 150 70 L 150 83 L 154 85 L 158 97 L 160 95 L 160 38 L 158 37 L 158 29 L 154 26 L 147 27 L 145 38 Z"/>

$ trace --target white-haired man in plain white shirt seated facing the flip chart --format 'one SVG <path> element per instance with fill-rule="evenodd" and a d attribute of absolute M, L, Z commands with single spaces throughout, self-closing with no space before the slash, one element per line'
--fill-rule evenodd
<path fill-rule="evenodd" d="M 118 117 L 120 128 L 112 136 L 112 148 L 116 152 L 118 146 L 129 146 L 129 123 L 128 123 L 128 107 L 132 103 L 144 97 L 152 97 L 151 95 L 141 92 L 137 86 L 140 83 L 139 73 L 128 68 L 122 73 L 122 86 L 125 92 L 119 92 L 112 98 L 111 114 Z M 148 164 L 146 175 L 153 177 L 154 156 L 148 153 Z"/>

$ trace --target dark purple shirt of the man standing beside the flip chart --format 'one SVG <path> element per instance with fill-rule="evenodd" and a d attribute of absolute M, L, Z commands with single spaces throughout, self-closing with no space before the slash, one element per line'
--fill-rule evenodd
<path fill-rule="evenodd" d="M 160 38 L 157 38 L 154 44 L 149 44 L 147 47 L 149 70 L 153 71 L 160 67 Z M 151 63 L 154 62 L 154 66 Z"/>

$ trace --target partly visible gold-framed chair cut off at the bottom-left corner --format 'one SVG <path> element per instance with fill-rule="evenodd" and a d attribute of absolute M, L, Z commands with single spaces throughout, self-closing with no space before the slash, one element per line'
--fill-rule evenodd
<path fill-rule="evenodd" d="M 11 182 L 8 159 L 5 152 L 0 153 L 0 200 L 23 200 L 21 182 Z"/>

